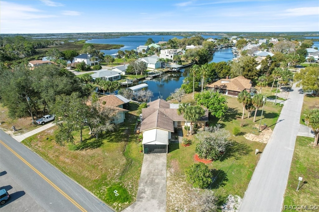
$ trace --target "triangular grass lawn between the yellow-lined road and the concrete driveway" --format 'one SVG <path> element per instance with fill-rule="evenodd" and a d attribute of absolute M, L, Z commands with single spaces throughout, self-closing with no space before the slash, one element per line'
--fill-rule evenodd
<path fill-rule="evenodd" d="M 48 129 L 22 141 L 41 157 L 56 166 L 116 211 L 136 200 L 138 181 L 143 162 L 137 135 L 134 134 L 138 105 L 130 103 L 126 120 L 114 132 L 98 139 L 90 138 L 89 129 L 83 131 L 83 142 L 57 145 L 57 127 Z M 79 132 L 74 132 L 75 141 Z M 49 138 L 46 140 L 46 138 Z M 120 195 L 114 196 L 114 190 Z"/>

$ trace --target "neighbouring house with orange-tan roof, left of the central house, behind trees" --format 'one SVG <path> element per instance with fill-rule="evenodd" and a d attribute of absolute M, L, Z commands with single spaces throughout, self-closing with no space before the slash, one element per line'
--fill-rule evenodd
<path fill-rule="evenodd" d="M 121 95 L 106 95 L 99 99 L 99 103 L 102 107 L 112 108 L 117 111 L 117 116 L 113 121 L 115 124 L 124 122 L 125 113 L 129 112 L 129 110 L 125 109 L 128 108 L 129 102 L 130 100 Z"/>

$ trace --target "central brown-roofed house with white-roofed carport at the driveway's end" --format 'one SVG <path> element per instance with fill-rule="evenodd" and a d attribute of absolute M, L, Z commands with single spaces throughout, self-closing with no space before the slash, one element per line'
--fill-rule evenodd
<path fill-rule="evenodd" d="M 143 150 L 149 153 L 167 153 L 168 142 L 174 128 L 186 125 L 183 115 L 177 114 L 178 104 L 170 104 L 163 99 L 149 102 L 147 108 L 142 109 L 141 128 L 143 133 Z M 205 115 L 197 121 L 198 125 L 205 126 L 208 121 L 208 110 Z M 190 125 L 188 121 L 187 125 Z"/>

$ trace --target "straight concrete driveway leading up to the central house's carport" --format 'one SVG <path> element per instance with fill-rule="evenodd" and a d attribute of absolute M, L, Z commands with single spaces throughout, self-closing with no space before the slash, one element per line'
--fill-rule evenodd
<path fill-rule="evenodd" d="M 145 154 L 138 184 L 137 200 L 123 212 L 166 211 L 167 154 Z"/>

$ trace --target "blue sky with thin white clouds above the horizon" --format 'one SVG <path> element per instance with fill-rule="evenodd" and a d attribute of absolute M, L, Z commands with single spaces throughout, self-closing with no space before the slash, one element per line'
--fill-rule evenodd
<path fill-rule="evenodd" d="M 0 33 L 319 31 L 319 1 L 0 1 Z"/>

